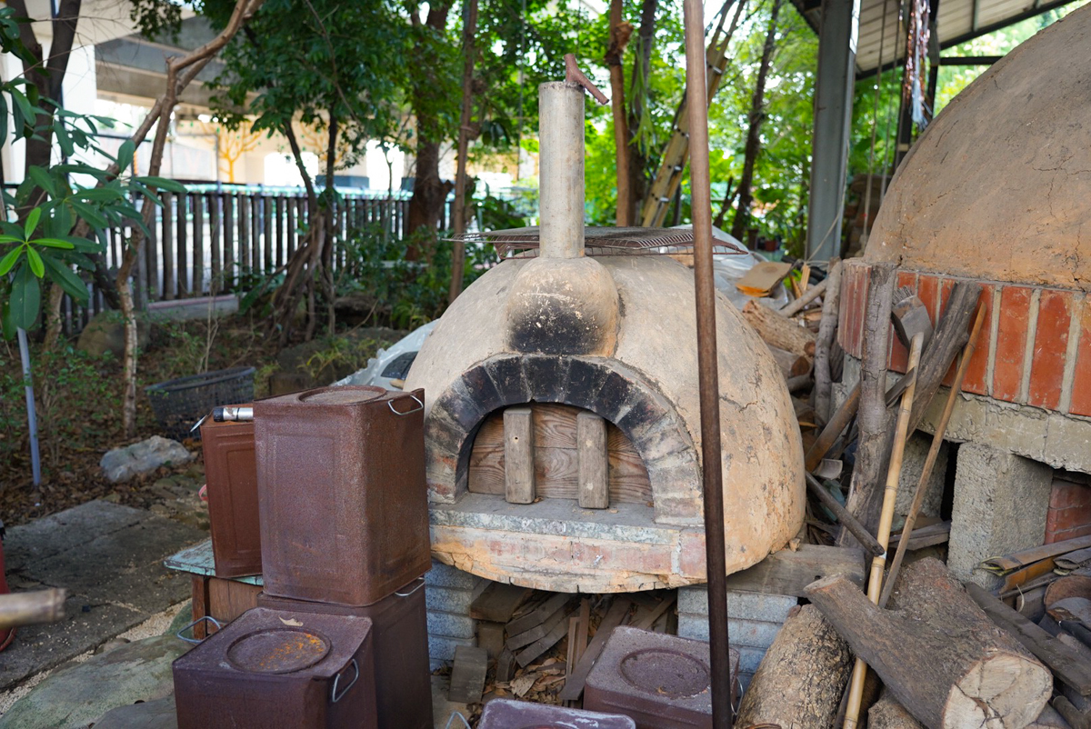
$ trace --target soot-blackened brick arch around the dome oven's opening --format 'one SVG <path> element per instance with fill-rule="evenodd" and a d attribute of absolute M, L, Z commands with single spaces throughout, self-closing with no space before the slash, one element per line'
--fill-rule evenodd
<path fill-rule="evenodd" d="M 497 355 L 457 378 L 424 422 L 430 498 L 451 503 L 465 493 L 473 438 L 485 417 L 530 402 L 573 405 L 615 425 L 648 470 L 656 521 L 702 518 L 700 465 L 674 406 L 638 372 L 597 357 Z"/>

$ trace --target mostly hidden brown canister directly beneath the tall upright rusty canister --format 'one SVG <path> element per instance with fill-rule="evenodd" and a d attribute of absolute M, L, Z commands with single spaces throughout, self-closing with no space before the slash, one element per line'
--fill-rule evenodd
<path fill-rule="evenodd" d="M 365 607 L 289 600 L 265 593 L 257 596 L 257 605 L 285 614 L 319 612 L 371 619 L 379 729 L 431 729 L 432 678 L 423 577 Z"/>

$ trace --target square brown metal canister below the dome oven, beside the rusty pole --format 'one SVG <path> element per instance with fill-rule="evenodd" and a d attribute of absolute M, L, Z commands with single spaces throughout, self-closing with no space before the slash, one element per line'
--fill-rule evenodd
<path fill-rule="evenodd" d="M 730 666 L 736 686 L 739 652 L 733 648 Z M 587 677 L 584 708 L 624 714 L 637 729 L 711 729 L 708 644 L 615 628 Z"/>

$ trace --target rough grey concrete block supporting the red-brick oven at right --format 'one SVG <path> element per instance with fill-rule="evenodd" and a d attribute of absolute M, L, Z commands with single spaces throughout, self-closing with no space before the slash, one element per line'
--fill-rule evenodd
<path fill-rule="evenodd" d="M 1038 547 L 1053 488 L 1048 466 L 981 443 L 958 452 L 947 566 L 986 589 L 999 578 L 976 569 L 990 557 Z"/>

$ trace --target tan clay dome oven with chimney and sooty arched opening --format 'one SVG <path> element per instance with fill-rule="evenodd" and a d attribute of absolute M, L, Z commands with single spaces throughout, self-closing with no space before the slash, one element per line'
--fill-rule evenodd
<path fill-rule="evenodd" d="M 537 258 L 454 301 L 406 381 L 423 387 L 432 550 L 555 591 L 702 583 L 693 275 L 664 255 L 585 255 L 584 92 L 543 84 Z M 764 343 L 717 301 L 729 572 L 803 518 L 791 398 Z"/>

